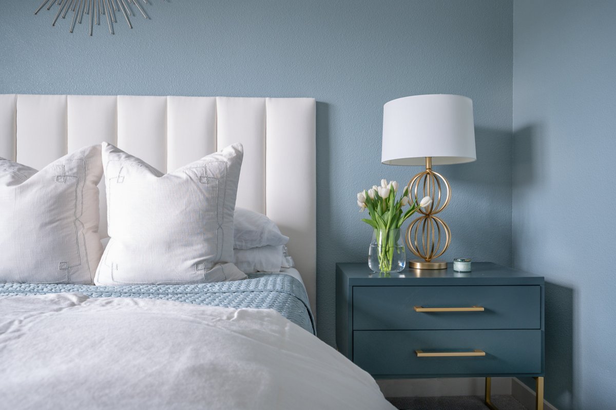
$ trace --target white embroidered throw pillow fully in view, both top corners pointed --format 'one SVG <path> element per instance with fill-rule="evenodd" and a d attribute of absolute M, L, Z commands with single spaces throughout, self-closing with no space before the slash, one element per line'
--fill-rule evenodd
<path fill-rule="evenodd" d="M 162 174 L 103 143 L 111 237 L 95 284 L 232 281 L 233 211 L 243 150 L 231 145 Z"/>

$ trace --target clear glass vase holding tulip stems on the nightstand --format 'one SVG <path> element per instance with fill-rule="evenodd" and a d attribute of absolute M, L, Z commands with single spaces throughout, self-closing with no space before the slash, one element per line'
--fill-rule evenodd
<path fill-rule="evenodd" d="M 407 255 L 400 229 L 375 229 L 368 251 L 368 266 L 378 273 L 402 271 Z"/>

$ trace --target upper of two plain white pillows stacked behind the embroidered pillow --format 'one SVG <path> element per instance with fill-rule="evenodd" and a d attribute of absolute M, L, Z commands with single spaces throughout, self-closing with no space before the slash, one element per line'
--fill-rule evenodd
<path fill-rule="evenodd" d="M 289 237 L 282 235 L 272 220 L 259 212 L 235 208 L 233 248 L 250 249 L 261 246 L 286 245 Z"/>

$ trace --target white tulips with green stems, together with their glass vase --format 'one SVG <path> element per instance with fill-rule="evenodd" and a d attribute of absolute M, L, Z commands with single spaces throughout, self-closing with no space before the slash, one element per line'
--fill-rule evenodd
<path fill-rule="evenodd" d="M 424 197 L 417 203 L 408 195 L 408 187 L 404 187 L 400 198 L 396 199 L 399 185 L 395 181 L 381 180 L 381 186 L 374 185 L 369 190 L 363 190 L 357 194 L 357 205 L 361 211 L 368 209 L 370 219 L 362 219 L 374 229 L 373 243 L 370 249 L 370 267 L 381 273 L 400 271 L 405 266 L 405 255 L 397 258 L 394 256 L 404 252 L 404 246 L 400 243 L 400 227 L 402 223 L 415 213 L 420 207 L 429 206 L 432 199 Z M 405 206 L 410 207 L 405 210 Z M 374 248 L 374 249 L 373 249 Z M 374 252 L 373 252 L 374 250 Z M 373 253 L 376 259 L 373 261 Z M 373 263 L 378 266 L 373 266 Z"/>

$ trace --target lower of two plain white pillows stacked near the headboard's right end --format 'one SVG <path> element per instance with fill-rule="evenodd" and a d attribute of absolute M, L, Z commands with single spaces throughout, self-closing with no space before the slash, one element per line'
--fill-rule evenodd
<path fill-rule="evenodd" d="M 293 259 L 284 245 L 234 249 L 233 252 L 235 266 L 245 273 L 280 272 L 281 268 L 293 267 Z"/>

